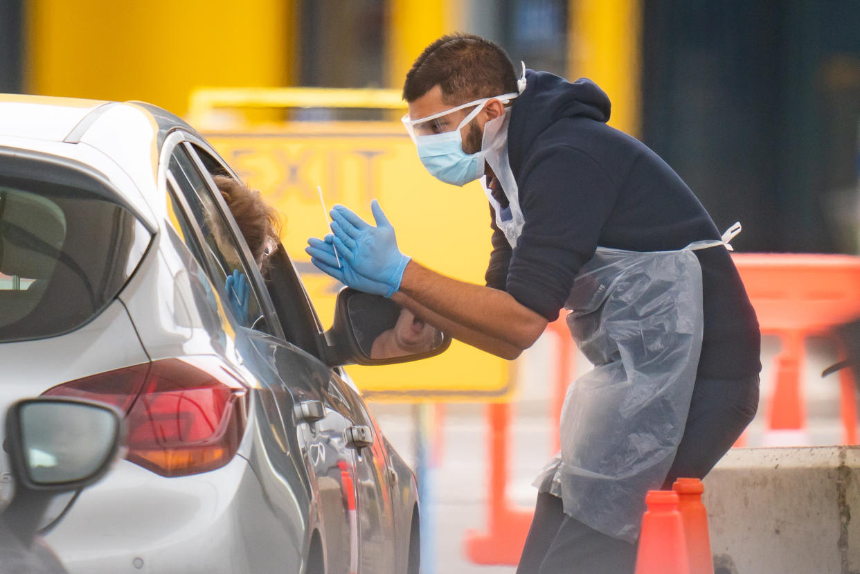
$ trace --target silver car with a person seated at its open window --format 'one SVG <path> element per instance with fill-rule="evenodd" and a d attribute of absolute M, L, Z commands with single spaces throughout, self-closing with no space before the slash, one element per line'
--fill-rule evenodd
<path fill-rule="evenodd" d="M 88 398 L 129 429 L 46 542 L 82 574 L 417 572 L 415 477 L 341 366 L 449 339 L 373 359 L 399 310 L 348 289 L 323 331 L 282 245 L 261 274 L 214 175 L 236 177 L 163 109 L 0 96 L 0 412 Z"/>

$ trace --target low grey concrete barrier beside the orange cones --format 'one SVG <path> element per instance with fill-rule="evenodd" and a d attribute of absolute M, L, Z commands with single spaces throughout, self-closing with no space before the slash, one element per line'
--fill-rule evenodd
<path fill-rule="evenodd" d="M 860 572 L 860 447 L 735 448 L 703 482 L 715 574 Z"/>

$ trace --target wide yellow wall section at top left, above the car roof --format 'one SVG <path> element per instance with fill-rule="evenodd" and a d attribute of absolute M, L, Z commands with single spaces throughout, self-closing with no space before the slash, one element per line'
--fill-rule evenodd
<path fill-rule="evenodd" d="M 190 89 L 281 86 L 298 70 L 289 0 L 29 0 L 25 89 L 144 100 L 184 114 Z"/>

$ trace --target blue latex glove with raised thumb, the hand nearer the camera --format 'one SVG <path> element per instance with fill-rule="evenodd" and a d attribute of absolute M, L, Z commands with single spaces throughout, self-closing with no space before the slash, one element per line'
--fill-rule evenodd
<path fill-rule="evenodd" d="M 361 219 L 343 206 L 331 210 L 331 231 L 337 254 L 360 275 L 384 283 L 390 288 L 390 297 L 400 288 L 403 270 L 411 257 L 397 249 L 394 227 L 385 217 L 376 200 L 371 202 L 376 227 Z"/>

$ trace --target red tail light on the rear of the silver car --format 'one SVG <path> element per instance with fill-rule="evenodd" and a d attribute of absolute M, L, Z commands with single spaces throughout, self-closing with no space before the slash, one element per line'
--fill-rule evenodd
<path fill-rule="evenodd" d="M 126 459 L 166 477 L 227 464 L 242 440 L 244 386 L 212 357 L 165 359 L 99 373 L 46 395 L 99 400 L 126 411 Z"/>

